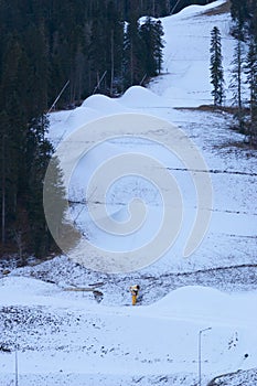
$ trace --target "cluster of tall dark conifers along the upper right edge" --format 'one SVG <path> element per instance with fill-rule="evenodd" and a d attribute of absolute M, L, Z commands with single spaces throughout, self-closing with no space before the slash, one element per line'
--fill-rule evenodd
<path fill-rule="evenodd" d="M 232 88 L 236 125 L 250 146 L 257 146 L 257 2 L 232 0 L 233 60 Z M 247 90 L 247 93 L 245 93 Z M 247 95 L 247 97 L 245 96 Z"/>

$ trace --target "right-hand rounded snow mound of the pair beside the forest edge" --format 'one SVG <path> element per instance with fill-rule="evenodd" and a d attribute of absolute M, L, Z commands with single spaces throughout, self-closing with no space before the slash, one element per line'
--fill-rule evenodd
<path fill-rule="evenodd" d="M 168 107 L 169 101 L 150 89 L 132 86 L 119 99 L 128 107 Z"/>

